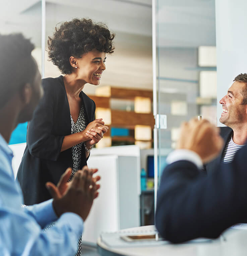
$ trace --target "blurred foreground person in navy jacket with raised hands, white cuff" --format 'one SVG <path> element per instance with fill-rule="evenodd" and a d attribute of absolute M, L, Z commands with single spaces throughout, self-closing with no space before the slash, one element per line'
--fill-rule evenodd
<path fill-rule="evenodd" d="M 206 120 L 184 123 L 177 150 L 167 158 L 157 197 L 156 227 L 171 242 L 217 238 L 247 216 L 247 145 L 232 162 L 218 162 L 217 171 L 208 175 L 199 171 L 203 162 L 221 152 L 224 141 L 219 131 Z"/>

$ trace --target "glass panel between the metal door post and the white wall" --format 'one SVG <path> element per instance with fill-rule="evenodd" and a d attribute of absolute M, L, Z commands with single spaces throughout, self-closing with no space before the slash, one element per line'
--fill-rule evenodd
<path fill-rule="evenodd" d="M 157 0 L 153 5 L 154 112 L 167 117 L 167 128 L 158 125 L 155 129 L 159 184 L 164 159 L 175 148 L 181 122 L 202 115 L 216 125 L 215 6 L 214 0 Z"/>

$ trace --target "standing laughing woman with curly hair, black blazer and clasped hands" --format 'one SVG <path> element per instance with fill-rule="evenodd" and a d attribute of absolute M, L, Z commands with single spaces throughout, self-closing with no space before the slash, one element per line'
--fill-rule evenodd
<path fill-rule="evenodd" d="M 46 182 L 57 184 L 68 167 L 72 177 L 107 132 L 104 121 L 95 120 L 95 103 L 82 89 L 86 83 L 100 84 L 114 36 L 103 23 L 73 19 L 49 37 L 49 58 L 64 76 L 42 79 L 44 97 L 27 125 L 17 172 L 26 205 L 50 199 Z"/>

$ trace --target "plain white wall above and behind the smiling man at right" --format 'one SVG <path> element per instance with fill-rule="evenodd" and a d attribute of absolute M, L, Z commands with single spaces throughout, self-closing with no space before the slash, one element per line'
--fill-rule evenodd
<path fill-rule="evenodd" d="M 217 47 L 217 100 L 239 73 L 247 73 L 246 0 L 215 0 Z M 217 125 L 222 105 L 217 105 Z"/>

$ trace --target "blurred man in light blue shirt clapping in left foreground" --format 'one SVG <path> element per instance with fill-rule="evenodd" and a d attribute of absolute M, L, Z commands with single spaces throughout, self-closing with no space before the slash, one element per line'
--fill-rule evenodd
<path fill-rule="evenodd" d="M 32 118 L 43 95 L 33 49 L 21 34 L 0 35 L 0 254 L 74 255 L 83 221 L 98 196 L 100 177 L 92 178 L 97 170 L 84 167 L 67 183 L 68 168 L 57 186 L 46 184 L 54 199 L 21 208 L 23 197 L 11 166 L 11 133 Z M 43 232 L 55 220 L 57 225 Z"/>

